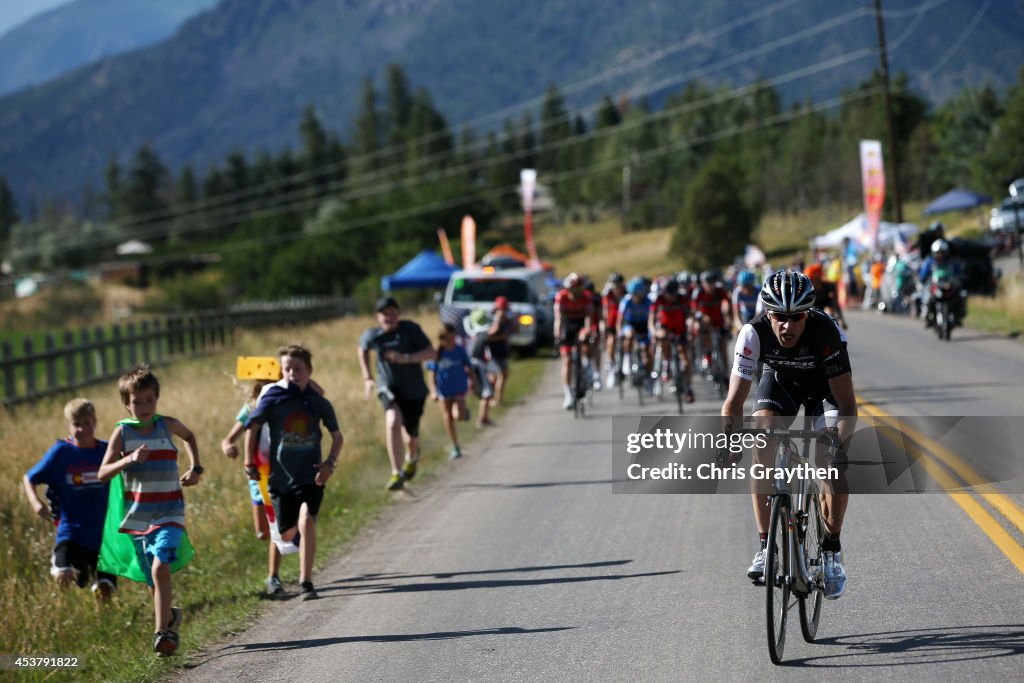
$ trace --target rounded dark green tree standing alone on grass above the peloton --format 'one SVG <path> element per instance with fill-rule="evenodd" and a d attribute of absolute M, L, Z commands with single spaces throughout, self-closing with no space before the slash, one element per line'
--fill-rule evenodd
<path fill-rule="evenodd" d="M 705 164 L 686 190 L 672 253 L 690 270 L 731 263 L 754 231 L 754 216 L 743 204 L 743 172 L 719 153 Z"/>

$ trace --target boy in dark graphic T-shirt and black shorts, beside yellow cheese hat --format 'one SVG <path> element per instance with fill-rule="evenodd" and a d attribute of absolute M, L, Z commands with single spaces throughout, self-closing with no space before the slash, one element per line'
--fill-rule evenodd
<path fill-rule="evenodd" d="M 343 439 L 331 401 L 310 386 L 313 361 L 309 350 L 286 346 L 279 355 L 284 379 L 260 396 L 246 423 L 245 469 L 250 479 L 259 479 L 256 446 L 265 424 L 270 431 L 270 503 L 281 538 L 290 542 L 297 532 L 301 535 L 299 584 L 302 599 L 311 600 L 316 598 L 312 584 L 316 515 Z M 331 434 L 327 460 L 322 460 L 321 424 Z"/>

